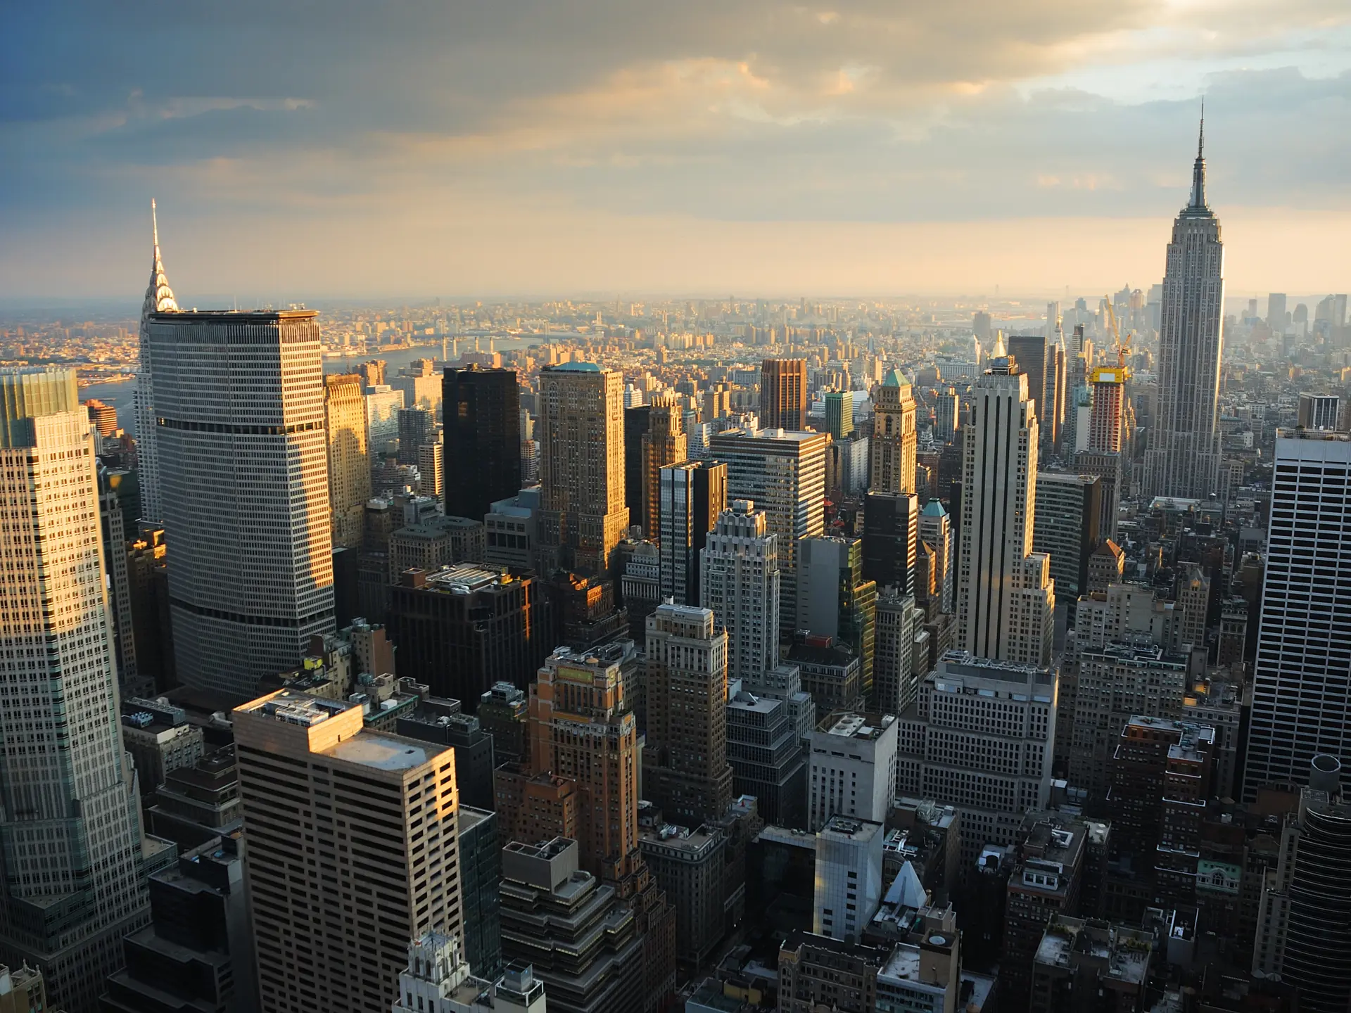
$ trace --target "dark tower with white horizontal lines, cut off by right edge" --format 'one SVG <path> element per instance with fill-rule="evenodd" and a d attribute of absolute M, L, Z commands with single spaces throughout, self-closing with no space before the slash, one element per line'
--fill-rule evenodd
<path fill-rule="evenodd" d="M 1351 436 L 1282 430 L 1252 670 L 1246 800 L 1351 755 Z"/>

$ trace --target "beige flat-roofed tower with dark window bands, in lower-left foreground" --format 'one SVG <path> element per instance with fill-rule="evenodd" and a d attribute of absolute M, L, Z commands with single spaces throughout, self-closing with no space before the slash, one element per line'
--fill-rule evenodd
<path fill-rule="evenodd" d="M 454 751 L 286 689 L 232 724 L 262 1013 L 381 1009 L 408 940 L 461 929 Z"/>

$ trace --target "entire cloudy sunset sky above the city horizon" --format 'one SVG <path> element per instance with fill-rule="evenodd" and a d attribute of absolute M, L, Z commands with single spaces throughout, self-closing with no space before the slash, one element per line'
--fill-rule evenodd
<path fill-rule="evenodd" d="M 1346 290 L 1344 0 L 12 5 L 0 297 Z"/>

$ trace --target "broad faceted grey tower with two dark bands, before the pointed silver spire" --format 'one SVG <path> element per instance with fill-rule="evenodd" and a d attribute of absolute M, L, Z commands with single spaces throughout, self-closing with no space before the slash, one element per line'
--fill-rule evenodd
<path fill-rule="evenodd" d="M 317 312 L 150 316 L 178 678 L 249 698 L 334 629 Z"/>

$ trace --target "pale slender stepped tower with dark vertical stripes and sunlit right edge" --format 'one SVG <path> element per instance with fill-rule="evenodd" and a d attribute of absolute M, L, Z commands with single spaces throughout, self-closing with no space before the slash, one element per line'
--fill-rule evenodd
<path fill-rule="evenodd" d="M 963 434 L 957 642 L 977 658 L 1046 666 L 1055 582 L 1032 551 L 1038 424 L 1027 375 L 996 342 Z"/>

